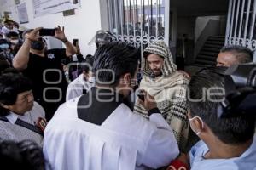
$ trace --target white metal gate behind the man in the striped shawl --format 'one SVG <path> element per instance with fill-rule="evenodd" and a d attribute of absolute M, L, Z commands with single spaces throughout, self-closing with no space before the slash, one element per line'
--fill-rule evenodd
<path fill-rule="evenodd" d="M 142 52 L 155 40 L 165 40 L 168 45 L 169 0 L 108 0 L 108 23 L 117 41 Z"/>

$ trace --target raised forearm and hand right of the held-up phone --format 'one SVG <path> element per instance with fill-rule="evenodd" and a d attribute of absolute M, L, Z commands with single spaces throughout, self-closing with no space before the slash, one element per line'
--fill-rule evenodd
<path fill-rule="evenodd" d="M 76 48 L 73 46 L 71 42 L 68 41 L 67 37 L 65 36 L 64 26 L 62 26 L 62 29 L 61 29 L 61 26 L 56 27 L 55 37 L 61 40 L 65 44 L 67 57 L 70 57 L 73 54 L 76 54 L 76 51 L 77 51 Z"/>

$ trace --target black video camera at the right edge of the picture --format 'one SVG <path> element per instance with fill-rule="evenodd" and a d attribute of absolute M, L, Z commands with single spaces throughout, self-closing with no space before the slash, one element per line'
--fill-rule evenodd
<path fill-rule="evenodd" d="M 218 117 L 253 116 L 256 111 L 256 64 L 233 65 L 225 71 L 224 77 L 226 96 L 218 107 Z"/>

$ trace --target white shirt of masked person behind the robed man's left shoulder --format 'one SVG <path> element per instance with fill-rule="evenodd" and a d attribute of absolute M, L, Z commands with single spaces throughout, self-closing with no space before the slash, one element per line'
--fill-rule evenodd
<path fill-rule="evenodd" d="M 79 77 L 70 82 L 67 87 L 66 101 L 69 99 L 74 99 L 83 94 L 83 90 L 87 92 L 93 87 L 95 84 L 92 82 L 88 82 L 84 79 L 84 74 L 80 74 Z"/>

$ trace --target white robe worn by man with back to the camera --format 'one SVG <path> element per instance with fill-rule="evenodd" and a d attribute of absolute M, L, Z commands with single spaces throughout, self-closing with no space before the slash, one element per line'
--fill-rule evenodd
<path fill-rule="evenodd" d="M 44 156 L 53 169 L 158 168 L 178 155 L 172 128 L 160 114 L 148 121 L 121 104 L 98 126 L 78 118 L 78 100 L 61 105 L 44 131 Z"/>

